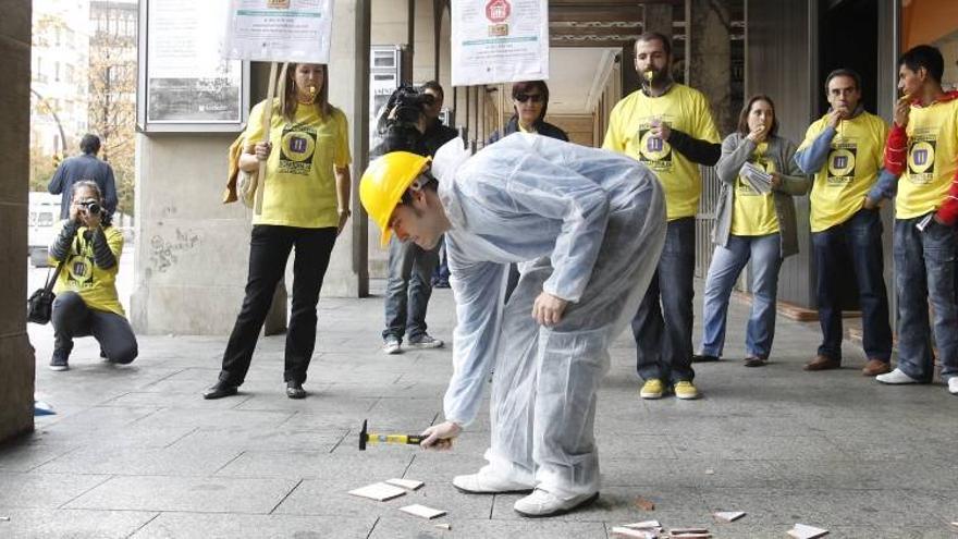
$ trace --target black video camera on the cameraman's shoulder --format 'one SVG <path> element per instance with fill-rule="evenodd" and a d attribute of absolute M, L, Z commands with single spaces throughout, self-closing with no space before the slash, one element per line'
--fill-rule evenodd
<path fill-rule="evenodd" d="M 382 144 L 373 148 L 373 155 L 390 151 L 410 151 L 422 155 L 422 133 L 419 120 L 425 114 L 425 107 L 435 102 L 435 97 L 426 94 L 415 86 L 402 85 L 396 88 L 383 107 L 377 121 L 377 132 L 382 136 Z"/>

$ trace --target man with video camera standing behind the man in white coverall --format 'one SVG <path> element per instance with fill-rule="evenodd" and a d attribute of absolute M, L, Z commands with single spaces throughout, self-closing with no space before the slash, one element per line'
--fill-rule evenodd
<path fill-rule="evenodd" d="M 430 81 L 419 88 L 400 86 L 390 96 L 378 125 L 383 142 L 372 150 L 379 157 L 391 151 L 432 156 L 457 133 L 439 120 L 442 86 Z M 439 248 L 423 249 L 413 242 L 390 242 L 389 280 L 385 294 L 385 354 L 402 352 L 403 338 L 413 348 L 439 348 L 443 342 L 426 332 L 426 309 L 432 295 L 432 273 L 439 265 Z"/>

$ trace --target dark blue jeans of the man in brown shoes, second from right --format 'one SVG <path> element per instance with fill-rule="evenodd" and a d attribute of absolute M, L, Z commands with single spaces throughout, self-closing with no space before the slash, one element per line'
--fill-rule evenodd
<path fill-rule="evenodd" d="M 869 359 L 889 362 L 892 326 L 883 274 L 882 218 L 879 210 L 861 209 L 842 224 L 812 233 L 818 272 L 816 297 L 822 344 L 819 355 L 842 360 L 843 274 L 851 269 L 858 283 L 862 344 Z"/>

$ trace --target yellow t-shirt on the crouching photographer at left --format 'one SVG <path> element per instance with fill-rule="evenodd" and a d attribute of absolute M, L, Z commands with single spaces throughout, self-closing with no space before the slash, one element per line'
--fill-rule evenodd
<path fill-rule="evenodd" d="M 60 235 L 65 222 L 60 221 L 57 224 L 53 237 Z M 120 254 L 123 253 L 123 233 L 113 226 L 103 228 L 107 245 L 116 257 L 116 264 L 108 269 L 99 268 L 94 264 L 94 241 L 91 235 L 87 238 L 87 233 L 93 234 L 86 226 L 77 229 L 70 253 L 66 255 L 66 262 L 53 286 L 53 293 L 76 292 L 87 307 L 125 317 L 126 314 L 116 296 L 116 273 L 120 271 Z M 50 260 L 53 264 L 60 261 L 52 257 Z"/>

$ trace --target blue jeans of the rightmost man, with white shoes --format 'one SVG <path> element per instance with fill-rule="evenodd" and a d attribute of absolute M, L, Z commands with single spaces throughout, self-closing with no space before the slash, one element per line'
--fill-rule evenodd
<path fill-rule="evenodd" d="M 955 260 L 958 231 L 934 221 L 924 232 L 921 218 L 895 220 L 895 279 L 898 287 L 898 368 L 921 380 L 934 375 L 929 305 L 942 379 L 958 376 L 958 287 Z"/>

